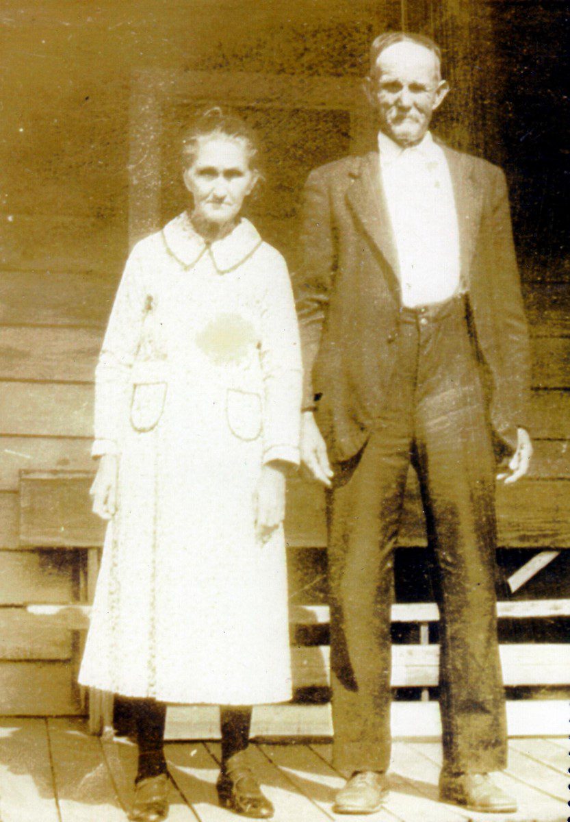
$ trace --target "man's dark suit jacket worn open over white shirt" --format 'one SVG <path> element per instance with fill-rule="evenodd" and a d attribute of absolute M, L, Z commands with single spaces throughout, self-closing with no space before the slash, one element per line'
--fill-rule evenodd
<path fill-rule="evenodd" d="M 459 222 L 461 278 L 490 423 L 513 447 L 527 427 L 530 357 L 508 207 L 496 166 L 446 146 Z M 398 255 L 377 152 L 310 173 L 294 266 L 305 367 L 333 459 L 364 445 L 386 400 L 401 305 Z"/>

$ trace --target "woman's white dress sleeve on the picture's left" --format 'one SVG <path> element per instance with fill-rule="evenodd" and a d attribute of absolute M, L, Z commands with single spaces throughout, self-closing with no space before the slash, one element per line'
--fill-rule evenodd
<path fill-rule="evenodd" d="M 95 368 L 95 440 L 91 454 L 118 454 L 129 403 L 131 368 L 145 316 L 146 290 L 140 250 L 126 261 Z"/>

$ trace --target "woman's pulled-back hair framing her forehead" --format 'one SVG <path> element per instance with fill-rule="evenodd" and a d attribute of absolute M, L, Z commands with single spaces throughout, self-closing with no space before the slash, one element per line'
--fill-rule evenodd
<path fill-rule="evenodd" d="M 195 114 L 182 138 L 182 163 L 189 169 L 196 159 L 200 140 L 205 137 L 228 137 L 243 143 L 250 168 L 260 169 L 260 149 L 255 132 L 239 114 L 223 106 L 201 109 Z"/>

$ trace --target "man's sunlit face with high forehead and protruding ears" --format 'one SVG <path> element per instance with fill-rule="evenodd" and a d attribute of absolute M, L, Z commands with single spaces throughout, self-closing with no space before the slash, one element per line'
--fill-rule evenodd
<path fill-rule="evenodd" d="M 403 41 L 384 49 L 376 69 L 365 89 L 380 130 L 402 147 L 419 143 L 448 93 L 438 59 L 429 48 Z"/>

